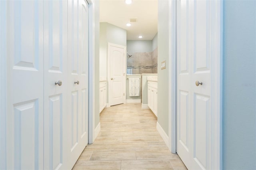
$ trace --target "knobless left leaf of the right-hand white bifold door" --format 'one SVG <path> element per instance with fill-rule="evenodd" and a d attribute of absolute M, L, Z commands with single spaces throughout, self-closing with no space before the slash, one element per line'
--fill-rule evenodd
<path fill-rule="evenodd" d="M 190 168 L 191 64 L 188 0 L 177 1 L 177 153 Z"/>

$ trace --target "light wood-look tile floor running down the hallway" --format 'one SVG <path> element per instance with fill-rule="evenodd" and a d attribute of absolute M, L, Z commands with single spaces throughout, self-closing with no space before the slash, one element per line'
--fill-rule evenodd
<path fill-rule="evenodd" d="M 156 130 L 157 118 L 140 103 L 105 108 L 101 130 L 77 160 L 73 170 L 186 170 Z"/>

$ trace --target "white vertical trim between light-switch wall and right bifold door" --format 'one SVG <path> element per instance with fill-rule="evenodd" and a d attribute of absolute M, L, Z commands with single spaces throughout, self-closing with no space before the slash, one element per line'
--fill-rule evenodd
<path fill-rule="evenodd" d="M 169 0 L 169 144 L 172 153 L 176 153 L 176 1 Z"/>

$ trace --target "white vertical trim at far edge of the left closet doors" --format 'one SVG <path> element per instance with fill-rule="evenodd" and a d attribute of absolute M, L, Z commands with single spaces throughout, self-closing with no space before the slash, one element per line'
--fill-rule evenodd
<path fill-rule="evenodd" d="M 94 0 L 87 0 L 89 4 L 89 144 L 94 142 L 95 128 L 95 17 Z M 90 102 L 91 101 L 91 102 Z"/>

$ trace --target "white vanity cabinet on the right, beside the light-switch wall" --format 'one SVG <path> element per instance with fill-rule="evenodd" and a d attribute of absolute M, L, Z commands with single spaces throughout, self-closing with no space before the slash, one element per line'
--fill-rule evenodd
<path fill-rule="evenodd" d="M 148 81 L 148 107 L 157 117 L 157 82 Z"/>

